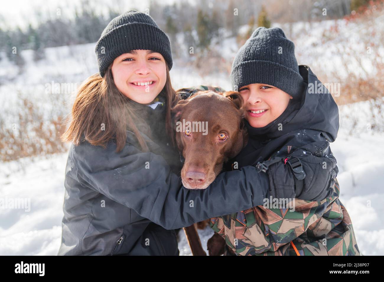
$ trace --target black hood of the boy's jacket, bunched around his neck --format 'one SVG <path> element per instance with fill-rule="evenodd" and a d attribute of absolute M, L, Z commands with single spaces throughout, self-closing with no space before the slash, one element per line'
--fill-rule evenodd
<path fill-rule="evenodd" d="M 329 142 L 336 139 L 339 130 L 339 109 L 336 102 L 309 66 L 300 65 L 299 71 L 305 82 L 301 100 L 290 101 L 286 111 L 279 117 L 280 120 L 277 118 L 263 128 L 254 128 L 246 121 L 250 137 L 275 139 L 297 130 L 312 129 L 320 131 Z M 271 126 L 276 122 L 281 122 L 282 130 Z"/>

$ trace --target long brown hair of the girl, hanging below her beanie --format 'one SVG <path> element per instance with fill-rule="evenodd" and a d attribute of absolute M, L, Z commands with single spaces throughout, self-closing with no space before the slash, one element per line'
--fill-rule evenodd
<path fill-rule="evenodd" d="M 86 140 L 104 148 L 107 142 L 113 140 L 117 145 L 116 152 L 119 152 L 126 143 L 126 130 L 130 130 L 136 135 L 141 150 L 148 152 L 148 146 L 135 124 L 140 118 L 135 114 L 131 99 L 117 89 L 111 66 L 104 78 L 100 74 L 94 74 L 81 84 L 72 107 L 70 125 L 61 140 L 73 142 L 74 145 Z M 166 97 L 166 133 L 172 136 L 170 110 L 177 103 L 178 96 L 172 88 L 167 65 L 166 71 L 166 84 L 159 95 Z"/>

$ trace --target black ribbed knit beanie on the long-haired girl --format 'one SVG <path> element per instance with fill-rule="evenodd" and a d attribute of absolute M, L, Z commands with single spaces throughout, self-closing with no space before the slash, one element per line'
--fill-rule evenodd
<path fill-rule="evenodd" d="M 114 59 L 132 50 L 156 51 L 162 54 L 168 68 L 172 68 L 168 36 L 151 16 L 132 10 L 111 20 L 101 33 L 95 48 L 101 77 Z"/>

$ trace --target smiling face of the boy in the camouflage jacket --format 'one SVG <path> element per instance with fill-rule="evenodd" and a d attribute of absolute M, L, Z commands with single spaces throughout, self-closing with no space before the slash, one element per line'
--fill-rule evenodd
<path fill-rule="evenodd" d="M 273 122 L 285 111 L 290 99 L 293 99 L 277 87 L 260 83 L 243 86 L 239 93 L 245 102 L 245 119 L 252 127 L 264 127 Z"/>

